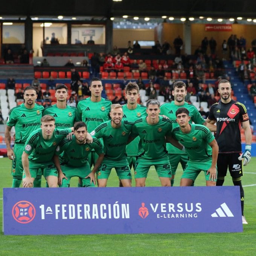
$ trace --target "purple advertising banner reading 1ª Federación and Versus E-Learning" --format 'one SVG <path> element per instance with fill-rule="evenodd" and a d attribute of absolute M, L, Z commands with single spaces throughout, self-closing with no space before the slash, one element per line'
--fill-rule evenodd
<path fill-rule="evenodd" d="M 242 230 L 238 186 L 3 189 L 5 235 Z"/>

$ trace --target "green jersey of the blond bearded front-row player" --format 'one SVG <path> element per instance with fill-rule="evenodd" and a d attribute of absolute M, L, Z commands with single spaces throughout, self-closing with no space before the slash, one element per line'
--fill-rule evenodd
<path fill-rule="evenodd" d="M 94 131 L 91 136 L 103 138 L 104 154 L 109 160 L 121 160 L 126 158 L 126 142 L 131 133 L 133 122 L 121 120 L 119 128 L 111 126 L 111 120 L 102 123 Z"/>

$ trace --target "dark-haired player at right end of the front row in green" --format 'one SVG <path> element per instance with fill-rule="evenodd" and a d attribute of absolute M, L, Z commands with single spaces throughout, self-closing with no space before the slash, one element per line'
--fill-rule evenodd
<path fill-rule="evenodd" d="M 179 126 L 172 131 L 172 136 L 184 145 L 189 157 L 180 186 L 191 186 L 201 171 L 204 171 L 206 186 L 216 186 L 219 147 L 212 133 L 204 125 L 189 124 L 187 108 L 179 108 L 176 117 Z"/>

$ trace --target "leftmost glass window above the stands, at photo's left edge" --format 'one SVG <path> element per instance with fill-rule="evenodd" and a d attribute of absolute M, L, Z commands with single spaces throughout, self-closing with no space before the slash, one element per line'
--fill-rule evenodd
<path fill-rule="evenodd" d="M 25 26 L 24 23 L 3 23 L 3 44 L 24 44 Z"/>

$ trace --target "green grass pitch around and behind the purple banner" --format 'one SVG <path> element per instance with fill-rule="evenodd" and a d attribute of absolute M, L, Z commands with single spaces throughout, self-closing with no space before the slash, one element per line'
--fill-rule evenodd
<path fill-rule="evenodd" d="M 2 226 L 3 187 L 10 187 L 11 161 L 0 158 L 0 226 Z M 245 216 L 248 225 L 242 233 L 193 233 L 193 234 L 136 234 L 136 235 L 66 235 L 66 236 L 5 236 L 0 233 L 0 255 L 253 255 L 256 251 L 256 157 L 244 168 L 242 183 L 245 186 Z M 253 172 L 248 174 L 246 172 Z M 181 176 L 179 167 L 175 179 L 178 186 Z M 114 171 L 108 186 L 118 186 Z M 44 186 L 45 182 L 42 186 Z M 77 185 L 73 179 L 71 186 Z M 146 181 L 147 186 L 160 186 L 154 169 Z M 204 186 L 203 173 L 196 180 Z M 224 185 L 232 185 L 227 175 Z M 133 181 L 134 186 L 134 181 Z"/>

